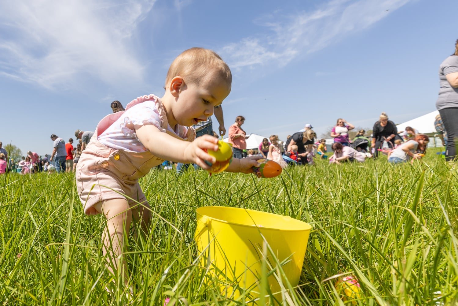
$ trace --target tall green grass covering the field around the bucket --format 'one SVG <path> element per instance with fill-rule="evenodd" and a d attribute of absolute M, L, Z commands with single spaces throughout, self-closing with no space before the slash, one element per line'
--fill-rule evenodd
<path fill-rule="evenodd" d="M 104 217 L 84 216 L 71 174 L 0 176 L 0 305 L 162 306 L 166 297 L 179 299 L 175 305 L 244 305 L 243 297 L 222 296 L 199 267 L 195 209 L 211 205 L 312 225 L 299 288 L 278 301 L 283 305 L 350 305 L 334 289 L 346 274 L 361 285 L 354 305 L 456 305 L 452 167 L 431 150 L 413 166 L 388 165 L 383 157 L 339 166 L 318 160 L 273 179 L 153 170 L 141 180 L 152 225 L 146 236 L 129 240 L 131 279 L 117 289 L 101 255 Z M 126 297 L 129 288 L 133 295 Z"/>

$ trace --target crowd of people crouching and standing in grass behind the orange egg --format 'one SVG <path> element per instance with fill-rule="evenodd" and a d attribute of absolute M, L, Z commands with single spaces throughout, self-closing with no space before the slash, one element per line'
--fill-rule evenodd
<path fill-rule="evenodd" d="M 317 140 L 310 123 L 289 135 L 284 145 L 278 141 L 278 135 L 271 135 L 269 139 L 262 139 L 257 148 L 246 150 L 245 140 L 250 135 L 246 136 L 241 128 L 244 122 L 245 117 L 238 116 L 229 128 L 229 143 L 233 146 L 234 157 L 259 155 L 277 161 L 284 168 L 288 165 L 313 165 L 314 158 L 318 156 L 328 158 L 326 139 Z M 446 134 L 440 116 L 436 117 L 435 126 L 438 135 Z M 390 163 L 407 162 L 409 159 L 420 159 L 425 156 L 429 142 L 427 135 L 419 134 L 418 130 L 412 127 L 406 127 L 404 131 L 398 132 L 396 125 L 388 120 L 385 112 L 382 112 L 379 120 L 375 122 L 371 135 L 366 136 L 365 130 L 361 129 L 353 139 L 350 139 L 349 131 L 352 129 L 353 124 L 342 118 L 337 120 L 337 125 L 331 131 L 333 155 L 329 156 L 329 163 L 364 162 L 366 158 L 376 158 L 381 153 L 388 156 Z M 445 145 L 444 138 L 441 139 Z"/>

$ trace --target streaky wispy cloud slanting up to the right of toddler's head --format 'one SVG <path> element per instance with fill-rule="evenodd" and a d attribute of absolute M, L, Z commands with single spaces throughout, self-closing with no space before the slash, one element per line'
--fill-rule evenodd
<path fill-rule="evenodd" d="M 297 56 L 322 50 L 362 31 L 412 0 L 332 0 L 315 11 L 259 18 L 268 34 L 259 33 L 228 44 L 218 52 L 231 68 L 286 65 Z"/>

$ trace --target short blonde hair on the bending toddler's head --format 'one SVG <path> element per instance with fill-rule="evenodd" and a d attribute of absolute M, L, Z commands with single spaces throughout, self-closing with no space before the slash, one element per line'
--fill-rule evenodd
<path fill-rule="evenodd" d="M 185 82 L 200 84 L 200 81 L 211 75 L 212 70 L 231 86 L 232 73 L 228 64 L 213 50 L 191 48 L 183 51 L 170 65 L 165 78 L 165 88 L 169 87 L 174 77 L 182 77 Z"/>

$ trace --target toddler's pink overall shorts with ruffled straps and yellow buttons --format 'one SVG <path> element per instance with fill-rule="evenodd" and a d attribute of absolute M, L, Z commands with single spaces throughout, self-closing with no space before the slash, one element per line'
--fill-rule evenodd
<path fill-rule="evenodd" d="M 168 122 L 164 107 L 154 95 L 139 97 L 129 103 L 125 109 L 148 100 L 156 102 L 161 117 L 161 127 L 167 129 Z M 103 200 L 126 199 L 129 204 L 139 202 L 147 206 L 147 200 L 138 184 L 138 179 L 147 175 L 152 167 L 164 161 L 150 151 L 116 150 L 102 145 L 97 140 L 98 135 L 102 134 L 123 113 L 124 111 L 119 111 L 110 114 L 98 123 L 91 141 L 76 164 L 76 189 L 86 215 L 98 214 L 99 211 L 96 211 L 93 205 Z M 167 133 L 179 138 L 169 131 Z M 187 129 L 186 137 L 187 139 L 183 140 L 192 141 L 196 138 L 194 128 Z"/>

